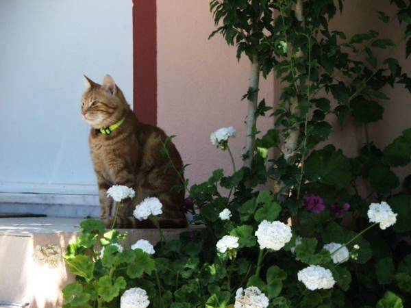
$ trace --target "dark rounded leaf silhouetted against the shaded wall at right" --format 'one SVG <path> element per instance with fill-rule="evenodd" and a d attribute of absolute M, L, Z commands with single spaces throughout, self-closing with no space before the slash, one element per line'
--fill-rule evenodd
<path fill-rule="evenodd" d="M 361 123 L 371 123 L 382 119 L 384 108 L 376 101 L 356 97 L 351 101 L 353 117 Z"/>

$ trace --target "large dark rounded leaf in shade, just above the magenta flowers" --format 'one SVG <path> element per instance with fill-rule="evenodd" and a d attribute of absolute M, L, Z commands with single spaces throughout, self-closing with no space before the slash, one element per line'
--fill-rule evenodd
<path fill-rule="evenodd" d="M 331 144 L 313 151 L 306 160 L 306 176 L 312 181 L 344 188 L 351 181 L 351 165 L 341 150 Z"/>

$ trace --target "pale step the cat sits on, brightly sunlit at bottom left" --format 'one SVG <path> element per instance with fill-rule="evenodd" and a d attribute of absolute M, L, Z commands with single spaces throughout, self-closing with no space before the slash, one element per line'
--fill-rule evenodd
<path fill-rule="evenodd" d="M 75 240 L 81 221 L 81 218 L 0 218 L 0 307 L 62 307 L 62 288 L 74 280 L 62 255 L 67 244 Z M 183 231 L 187 229 L 164 229 L 163 233 L 172 239 Z M 141 238 L 151 244 L 159 240 L 156 229 L 127 232 L 129 236 L 123 243 L 126 247 Z"/>

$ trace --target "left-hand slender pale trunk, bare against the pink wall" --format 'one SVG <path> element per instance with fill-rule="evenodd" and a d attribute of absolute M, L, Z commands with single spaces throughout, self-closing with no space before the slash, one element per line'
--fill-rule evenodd
<path fill-rule="evenodd" d="M 252 94 L 248 99 L 248 112 L 247 112 L 247 136 L 245 138 L 245 160 L 244 166 L 251 168 L 251 161 L 253 159 L 253 152 L 255 148 L 256 137 L 253 135 L 253 127 L 256 126 L 256 110 L 258 101 L 258 84 L 260 82 L 260 69 L 258 67 L 258 55 L 253 55 L 251 59 L 251 71 L 249 79 L 249 91 Z"/>

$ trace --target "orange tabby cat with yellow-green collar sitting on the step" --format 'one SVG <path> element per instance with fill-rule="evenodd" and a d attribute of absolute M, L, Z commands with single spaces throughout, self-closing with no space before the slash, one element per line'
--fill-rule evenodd
<path fill-rule="evenodd" d="M 114 209 L 107 190 L 118 184 L 134 188 L 136 196 L 120 207 L 116 227 L 154 227 L 150 220 L 140 222 L 132 216 L 136 205 L 150 196 L 159 198 L 163 205 L 163 214 L 158 216 L 160 227 L 186 227 L 184 192 L 173 188 L 182 180 L 175 170 L 166 168 L 169 160 L 160 153 L 160 141 L 155 140 L 165 140 L 164 131 L 138 122 L 110 75 L 105 75 L 102 85 L 84 77 L 88 88 L 83 94 L 82 116 L 92 127 L 88 142 L 99 184 L 101 220 L 111 227 Z M 173 142 L 167 143 L 167 149 L 181 170 L 182 159 Z"/>

